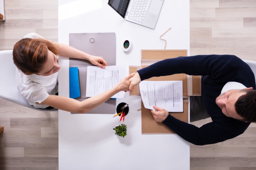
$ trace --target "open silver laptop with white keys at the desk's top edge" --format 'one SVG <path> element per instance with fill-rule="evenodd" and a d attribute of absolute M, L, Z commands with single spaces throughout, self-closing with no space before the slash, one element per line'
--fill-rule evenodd
<path fill-rule="evenodd" d="M 125 20 L 155 29 L 164 0 L 109 0 Z"/>

